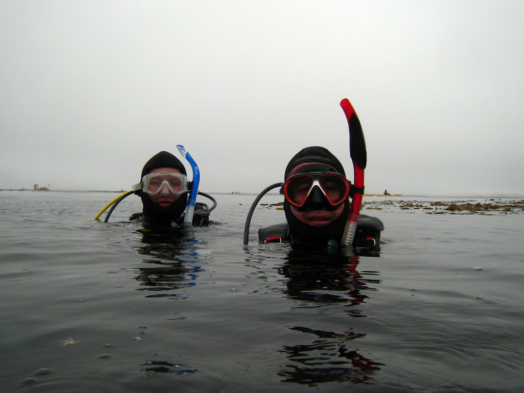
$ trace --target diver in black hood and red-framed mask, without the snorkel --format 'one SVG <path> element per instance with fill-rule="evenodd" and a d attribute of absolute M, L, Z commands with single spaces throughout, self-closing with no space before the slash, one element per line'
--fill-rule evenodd
<path fill-rule="evenodd" d="M 244 244 L 248 242 L 250 216 L 261 196 L 280 187 L 284 196 L 286 223 L 258 230 L 260 242 L 341 244 L 355 187 L 345 177 L 344 167 L 328 150 L 312 146 L 299 151 L 286 167 L 283 183 L 267 187 L 255 200 L 246 219 Z M 353 239 L 356 246 L 377 246 L 384 224 L 361 215 Z M 336 242 L 336 243 L 333 243 Z"/>

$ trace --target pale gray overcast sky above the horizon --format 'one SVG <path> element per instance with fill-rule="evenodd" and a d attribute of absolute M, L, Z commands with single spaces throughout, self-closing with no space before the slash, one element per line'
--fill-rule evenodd
<path fill-rule="evenodd" d="M 0 188 L 128 190 L 187 148 L 258 193 L 322 145 L 367 193 L 523 196 L 524 2 L 0 2 Z M 186 165 L 191 172 L 189 165 Z M 191 178 L 191 176 L 189 176 Z"/>

